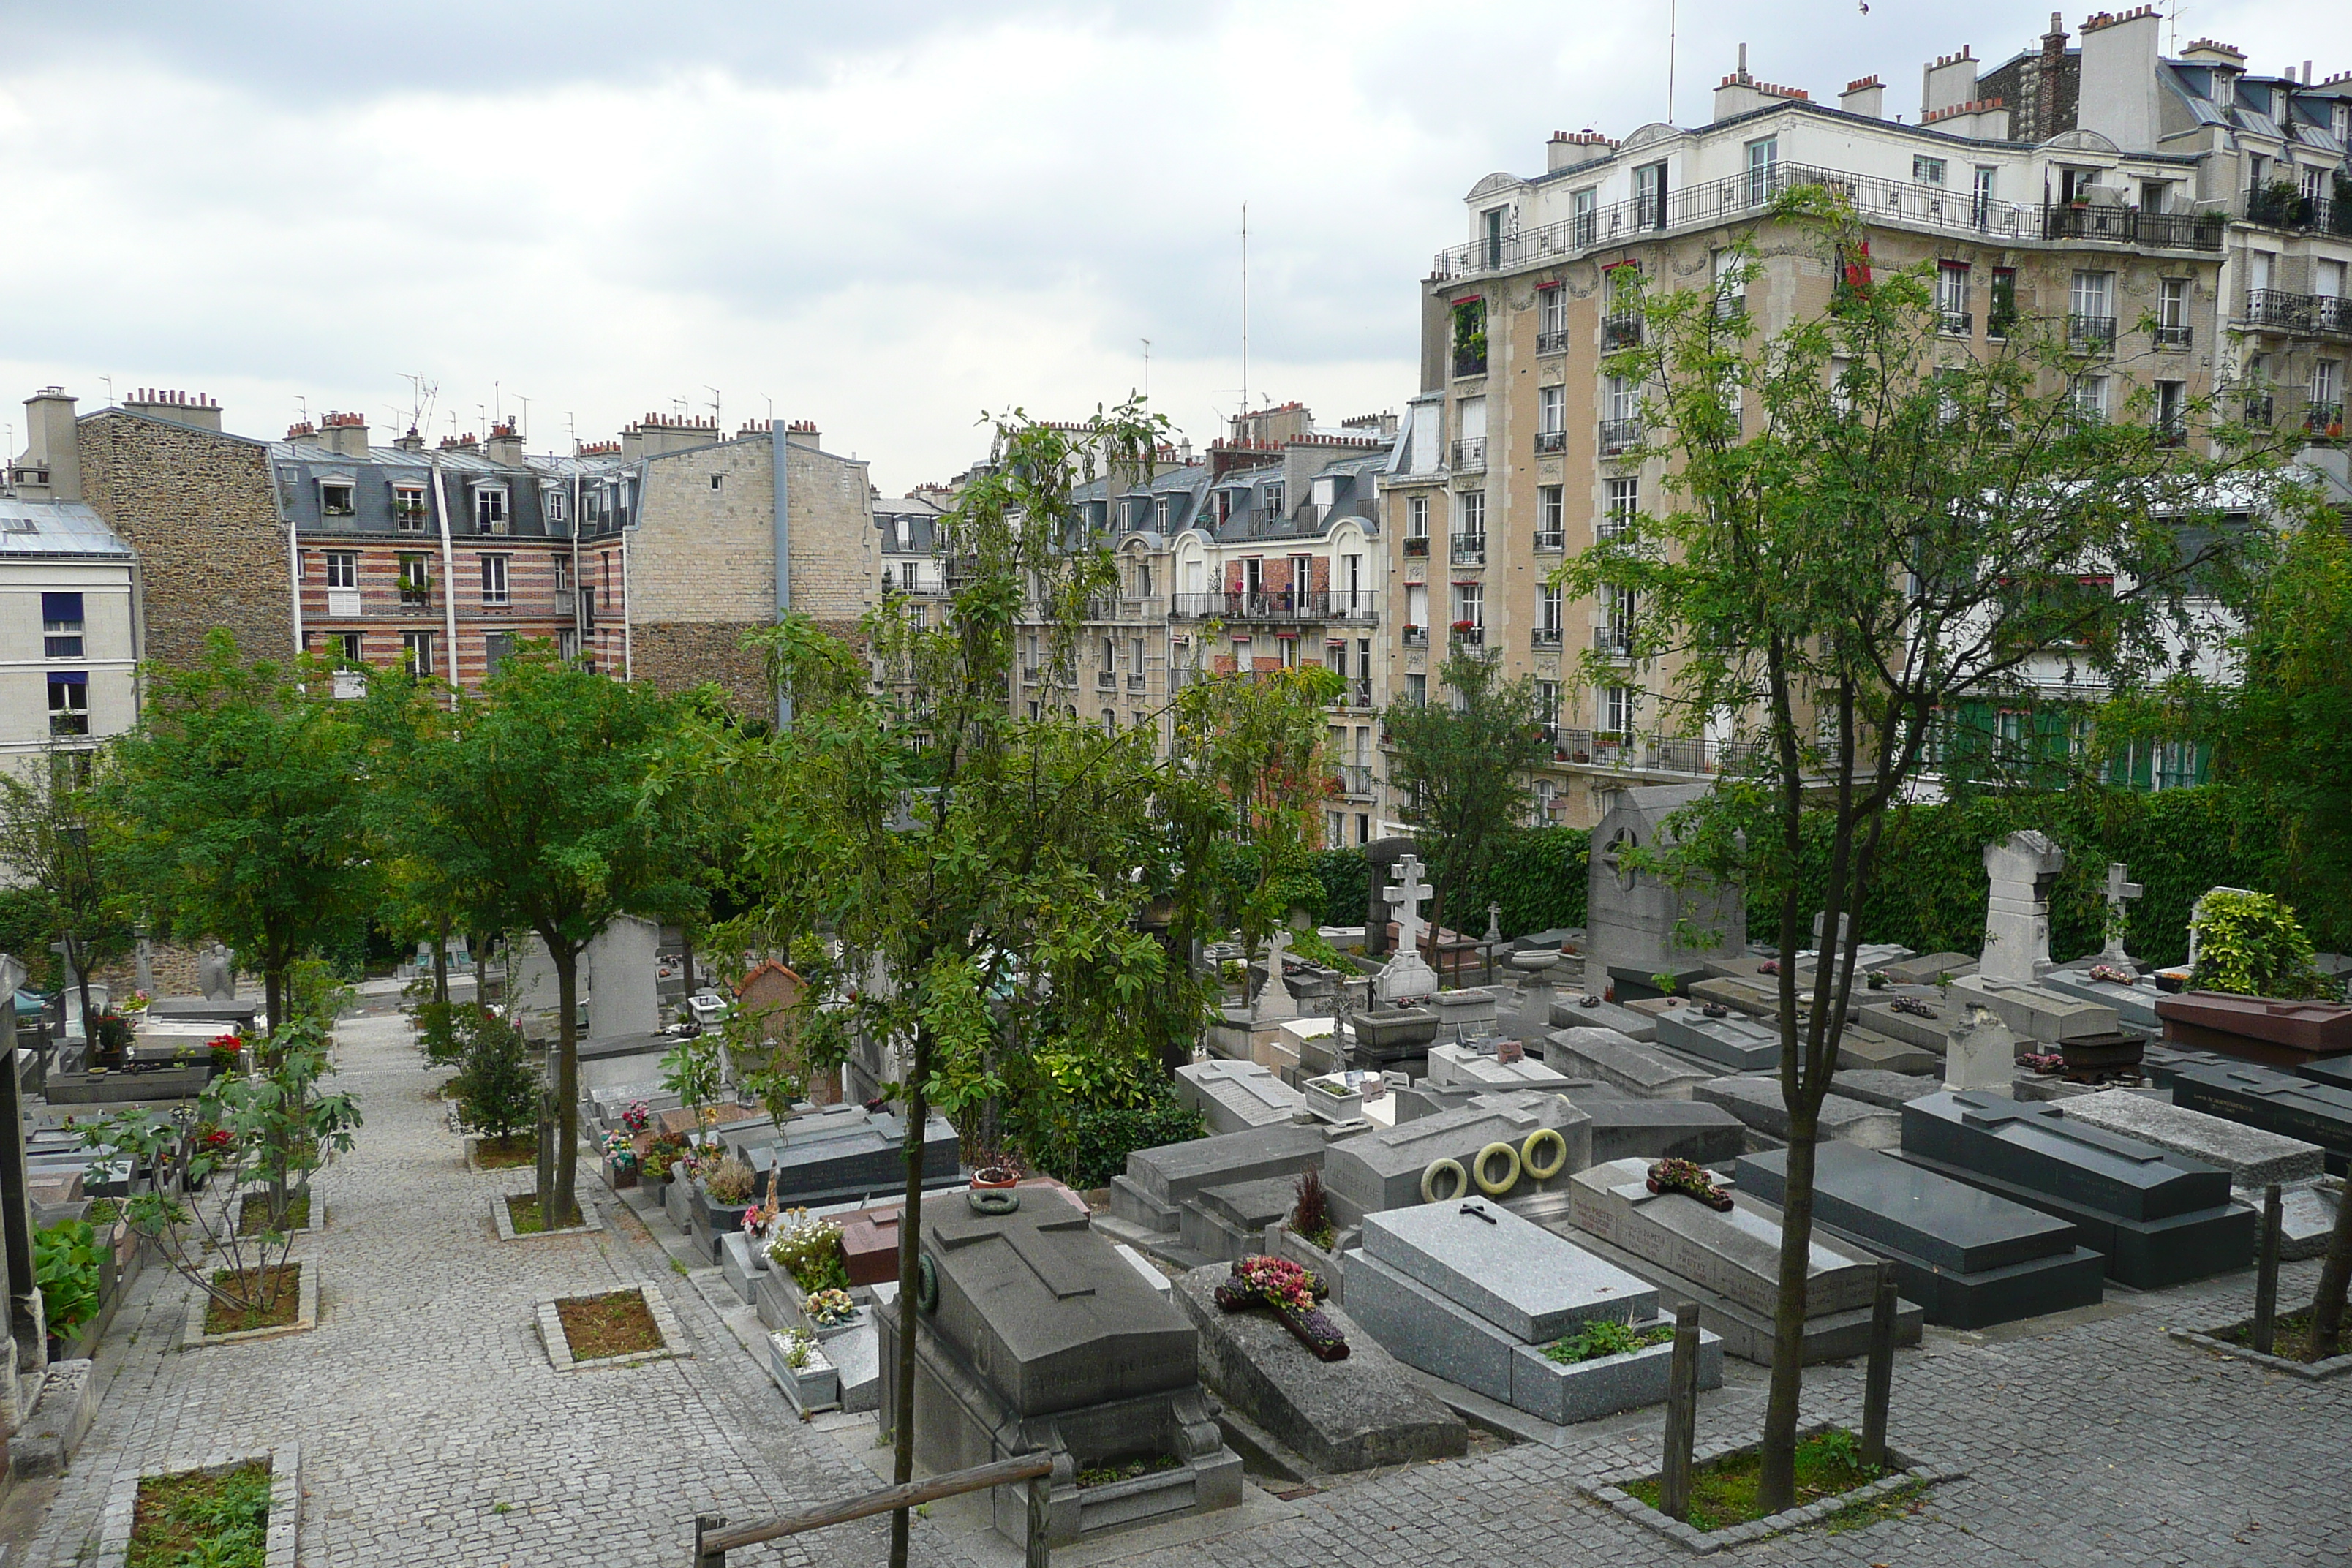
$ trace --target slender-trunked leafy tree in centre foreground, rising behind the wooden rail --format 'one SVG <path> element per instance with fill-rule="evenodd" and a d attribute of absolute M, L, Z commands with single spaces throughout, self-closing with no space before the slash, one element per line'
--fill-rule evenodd
<path fill-rule="evenodd" d="M 1204 987 L 1171 973 L 1188 966 L 1141 922 L 1178 884 L 1162 811 L 1197 820 L 1195 802 L 1171 802 L 1141 726 L 1023 719 L 1011 705 L 1014 625 L 1028 607 L 1047 625 L 1047 665 L 1070 677 L 1087 602 L 1117 590 L 1075 487 L 1148 473 L 1160 433 L 1138 404 L 1075 428 L 1000 421 L 993 463 L 941 520 L 950 618 L 924 625 L 896 599 L 868 616 L 880 682 L 847 644 L 786 618 L 760 642 L 790 693 L 790 729 L 703 764 L 755 809 L 746 865 L 757 903 L 731 936 L 764 950 L 816 929 L 837 938 L 840 957 L 802 964 L 802 1048 L 840 1060 L 863 1037 L 903 1053 L 906 1368 L 927 1117 L 1002 1100 L 1021 1119 L 1054 1103 L 1058 1074 L 1091 1079 L 1103 1063 L 1157 1077 L 1162 1039 L 1207 1018 Z M 913 1389 L 901 1378 L 898 1481 L 915 1462 Z M 903 1568 L 906 1552 L 898 1512 L 891 1563 Z"/>

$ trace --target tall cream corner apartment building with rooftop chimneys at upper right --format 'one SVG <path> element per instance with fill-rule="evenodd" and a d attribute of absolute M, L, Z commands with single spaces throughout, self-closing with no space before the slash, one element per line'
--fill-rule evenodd
<path fill-rule="evenodd" d="M 2058 320 L 2093 355 L 2086 414 L 2122 416 L 2145 383 L 2166 421 L 2227 386 L 2258 416 L 2338 435 L 2352 331 L 2324 301 L 2352 256 L 2336 195 L 2347 82 L 2251 80 L 2213 42 L 2159 59 L 2159 26 L 2152 7 L 2093 16 L 2070 49 L 2053 19 L 1992 73 L 1959 49 L 1922 71 L 1915 125 L 1886 118 L 1879 78 L 1828 108 L 1752 78 L 1743 47 L 1708 125 L 1562 132 L 1541 174 L 1477 181 L 1468 242 L 1423 284 L 1423 393 L 1381 482 L 1397 541 L 1385 592 L 1402 604 L 1383 637 L 1392 689 L 1425 693 L 1449 646 L 1501 649 L 1508 672 L 1543 682 L 1552 759 L 1536 795 L 1559 823 L 1743 755 L 1729 722 L 1691 733 L 1661 715 L 1672 670 L 1625 658 L 1637 602 L 1564 602 L 1545 578 L 1663 503 L 1639 390 L 1602 374 L 1642 331 L 1635 282 L 1722 277 L 1792 183 L 1844 190 L 1877 266 L 1933 263 L 1952 355 L 1985 353 L 2020 317 Z M 1757 240 L 1743 303 L 1769 336 L 1818 313 L 1832 277 L 1780 242 L 1795 235 Z M 1583 682 L 1588 649 L 1621 675 Z"/>

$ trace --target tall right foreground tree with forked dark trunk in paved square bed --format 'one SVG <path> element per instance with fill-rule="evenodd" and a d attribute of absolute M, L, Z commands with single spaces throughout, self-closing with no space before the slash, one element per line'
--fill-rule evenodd
<path fill-rule="evenodd" d="M 1856 922 L 1799 1018 L 1809 903 L 1825 931 L 1863 907 L 1943 712 L 2169 670 L 2197 637 L 2192 590 L 2241 545 L 2220 498 L 2260 491 L 2272 458 L 2209 407 L 2187 411 L 2187 444 L 2140 418 L 2143 400 L 2126 418 L 2086 416 L 2079 378 L 2114 367 L 2063 322 L 1943 348 L 1933 263 L 1875 273 L 1842 197 L 1797 188 L 1771 223 L 1778 254 L 1797 247 L 1797 266 L 1830 280 L 1828 308 L 1762 339 L 1740 306 L 1759 275 L 1752 237 L 1715 289 L 1642 299 L 1642 343 L 1606 369 L 1644 390 L 1644 456 L 1668 458 L 1670 505 L 1557 581 L 1637 595 L 1632 656 L 1665 665 L 1689 731 L 1719 717 L 1762 731 L 1750 776 L 1686 813 L 1672 853 L 1778 907 L 1790 1135 L 1762 1502 L 1785 1507 L 1813 1150 L 1860 940 Z M 1806 865 L 1809 806 L 1828 820 L 1825 870 Z"/>

